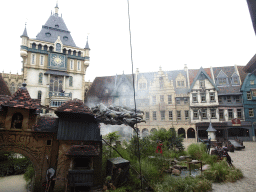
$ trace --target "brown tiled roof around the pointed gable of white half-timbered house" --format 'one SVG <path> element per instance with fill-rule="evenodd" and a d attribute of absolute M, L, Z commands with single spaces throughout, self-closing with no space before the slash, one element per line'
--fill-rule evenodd
<path fill-rule="evenodd" d="M 194 85 L 195 85 L 195 83 L 196 83 L 196 81 L 198 80 L 198 78 L 199 78 L 199 75 L 201 74 L 201 73 L 203 73 L 205 76 L 206 76 L 206 78 L 210 81 L 210 83 L 214 86 L 214 88 L 218 91 L 218 88 L 217 88 L 217 86 L 215 85 L 215 83 L 213 82 L 213 80 L 212 80 L 212 76 L 211 76 L 211 71 L 210 71 L 210 68 L 206 68 L 206 69 L 203 69 L 202 67 L 198 70 L 198 72 L 197 72 L 197 74 L 196 74 L 196 76 L 195 76 L 195 70 L 191 70 L 191 73 L 190 73 L 190 70 L 189 70 L 189 79 L 190 79 L 190 82 L 192 81 L 192 83 L 191 83 L 191 86 L 190 86 L 190 89 L 189 89 L 189 92 L 191 92 L 191 90 L 193 89 L 193 87 L 194 87 Z M 190 76 L 192 76 L 192 77 L 190 77 Z M 192 78 L 192 79 L 191 79 Z"/>

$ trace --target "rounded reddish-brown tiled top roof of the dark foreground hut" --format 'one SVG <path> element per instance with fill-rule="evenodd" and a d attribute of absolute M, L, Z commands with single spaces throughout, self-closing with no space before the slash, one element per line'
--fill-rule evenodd
<path fill-rule="evenodd" d="M 90 108 L 87 107 L 82 100 L 73 99 L 63 103 L 55 111 L 56 114 L 59 113 L 77 113 L 77 114 L 86 114 L 93 115 Z"/>

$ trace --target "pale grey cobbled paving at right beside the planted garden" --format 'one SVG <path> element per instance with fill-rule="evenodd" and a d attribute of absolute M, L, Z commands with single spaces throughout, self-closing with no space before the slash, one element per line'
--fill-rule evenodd
<path fill-rule="evenodd" d="M 244 142 L 245 149 L 229 152 L 233 165 L 244 175 L 234 183 L 213 183 L 213 192 L 256 192 L 256 142 Z"/>

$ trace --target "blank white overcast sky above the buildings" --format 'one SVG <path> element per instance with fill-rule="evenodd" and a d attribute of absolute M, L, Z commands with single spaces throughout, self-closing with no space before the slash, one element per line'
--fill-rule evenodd
<path fill-rule="evenodd" d="M 20 36 L 25 22 L 35 38 L 54 12 L 55 0 L 4 1 L 1 6 L 1 67 L 21 73 Z M 59 0 L 59 13 L 78 47 L 89 33 L 85 80 L 130 74 L 126 0 Z M 130 0 L 134 72 L 246 65 L 256 39 L 246 0 Z"/>

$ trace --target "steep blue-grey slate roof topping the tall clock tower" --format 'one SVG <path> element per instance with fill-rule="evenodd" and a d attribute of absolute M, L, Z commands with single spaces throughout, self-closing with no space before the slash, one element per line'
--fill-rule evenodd
<path fill-rule="evenodd" d="M 46 33 L 50 33 L 50 37 L 48 37 Z M 59 17 L 58 15 L 51 15 L 36 36 L 36 40 L 54 43 L 58 36 L 60 36 L 60 40 L 64 45 L 76 47 L 70 31 L 68 31 L 62 17 Z M 67 39 L 65 40 L 63 37 L 67 37 Z"/>

